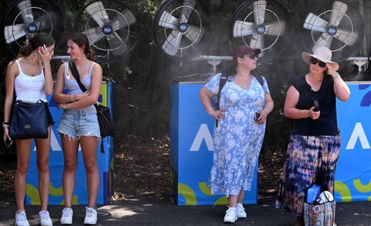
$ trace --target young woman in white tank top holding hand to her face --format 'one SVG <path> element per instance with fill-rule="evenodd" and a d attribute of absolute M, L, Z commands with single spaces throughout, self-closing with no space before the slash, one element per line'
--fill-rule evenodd
<path fill-rule="evenodd" d="M 17 100 L 36 103 L 38 99 L 47 101 L 45 95 L 52 95 L 53 78 L 50 60 L 54 54 L 54 38 L 46 33 L 36 33 L 20 49 L 20 54 L 6 68 L 6 97 L 4 103 L 3 139 L 10 140 L 10 111 L 13 103 L 13 92 Z M 54 124 L 49 108 L 47 108 L 49 136 L 46 139 L 35 138 L 38 166 L 38 191 L 40 195 L 40 225 L 52 225 L 47 202 L 50 187 L 49 154 L 50 132 Z M 15 225 L 29 225 L 24 210 L 26 193 L 26 177 L 29 169 L 31 145 L 33 139 L 10 140 L 10 145 L 17 145 L 17 170 L 15 171 L 14 188 L 17 202 Z M 34 164 L 34 163 L 33 163 Z"/>

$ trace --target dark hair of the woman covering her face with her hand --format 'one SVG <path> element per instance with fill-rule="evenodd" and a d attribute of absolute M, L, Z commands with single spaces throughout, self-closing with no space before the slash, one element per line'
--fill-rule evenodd
<path fill-rule="evenodd" d="M 43 32 L 36 33 L 36 35 L 30 37 L 30 39 L 20 49 L 17 58 L 20 58 L 22 56 L 29 56 L 32 53 L 32 51 L 38 49 L 38 47 L 43 47 L 44 45 L 46 47 L 50 47 L 51 45 L 54 44 L 55 40 L 52 37 L 52 35 Z"/>

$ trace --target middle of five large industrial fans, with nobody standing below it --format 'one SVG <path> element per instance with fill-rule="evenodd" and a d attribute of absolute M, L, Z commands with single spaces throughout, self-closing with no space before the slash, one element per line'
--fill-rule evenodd
<path fill-rule="evenodd" d="M 204 1 L 167 0 L 157 10 L 153 37 L 170 58 L 197 56 L 207 45 L 212 30 L 209 6 Z"/>

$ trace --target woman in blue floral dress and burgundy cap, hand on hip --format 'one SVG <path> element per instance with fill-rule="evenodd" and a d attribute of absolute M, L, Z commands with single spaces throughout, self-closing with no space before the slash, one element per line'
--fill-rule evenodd
<path fill-rule="evenodd" d="M 266 79 L 261 77 L 263 83 L 260 84 L 252 74 L 260 52 L 247 45 L 235 49 L 236 68 L 225 74 L 228 76 L 220 92 L 220 110 L 214 109 L 211 99 L 218 95 L 222 74 L 215 74 L 199 91 L 206 112 L 218 120 L 218 127 L 213 131 L 213 167 L 209 182 L 211 193 L 228 197 L 225 223 L 247 216 L 242 202 L 245 191 L 251 190 L 266 117 L 273 110 Z M 255 113 L 259 113 L 257 118 Z"/>

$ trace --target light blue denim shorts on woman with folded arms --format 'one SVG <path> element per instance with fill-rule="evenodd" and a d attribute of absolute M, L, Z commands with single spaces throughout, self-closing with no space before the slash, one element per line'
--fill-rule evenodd
<path fill-rule="evenodd" d="M 57 131 L 59 134 L 65 134 L 73 139 L 78 139 L 80 136 L 100 138 L 96 110 L 64 110 Z"/>

